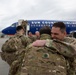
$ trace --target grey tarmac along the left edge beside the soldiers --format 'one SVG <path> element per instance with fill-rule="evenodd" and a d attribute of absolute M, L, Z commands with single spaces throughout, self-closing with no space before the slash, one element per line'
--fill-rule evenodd
<path fill-rule="evenodd" d="M 3 43 L 7 40 L 8 38 L 0 38 L 0 52 L 1 52 L 1 47 Z M 0 57 L 0 75 L 8 75 L 9 72 L 9 65 L 3 61 Z"/>

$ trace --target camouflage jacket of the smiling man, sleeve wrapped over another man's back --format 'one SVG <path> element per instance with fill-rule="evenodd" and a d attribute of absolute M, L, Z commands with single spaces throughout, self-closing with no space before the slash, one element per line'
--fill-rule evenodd
<path fill-rule="evenodd" d="M 51 48 L 54 47 L 57 51 L 69 58 L 70 63 L 69 75 L 76 75 L 76 39 L 65 37 L 64 40 L 47 40 L 46 46 Z"/>

